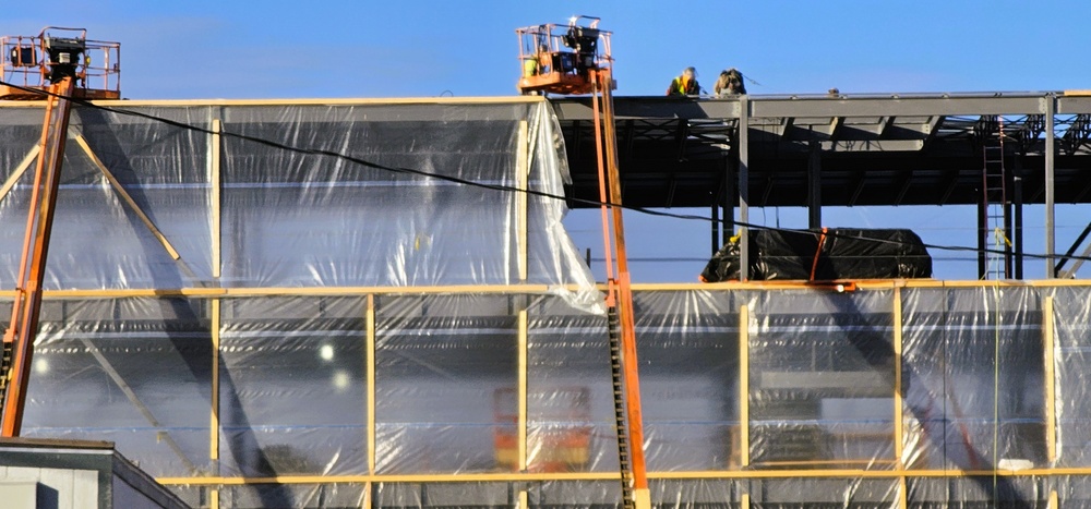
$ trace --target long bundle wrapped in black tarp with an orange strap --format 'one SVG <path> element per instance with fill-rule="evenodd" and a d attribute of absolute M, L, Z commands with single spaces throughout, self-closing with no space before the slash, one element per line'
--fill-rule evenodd
<path fill-rule="evenodd" d="M 739 243 L 729 242 L 700 274 L 706 282 L 739 279 Z M 750 279 L 891 279 L 932 277 L 932 256 L 911 230 L 757 230 L 750 233 Z"/>

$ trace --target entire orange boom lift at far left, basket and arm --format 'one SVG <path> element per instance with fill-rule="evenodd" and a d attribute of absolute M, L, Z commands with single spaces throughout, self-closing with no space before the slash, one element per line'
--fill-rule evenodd
<path fill-rule="evenodd" d="M 41 308 L 41 281 L 72 108 L 69 99 L 119 99 L 120 51 L 117 43 L 87 40 L 87 31 L 82 28 L 47 26 L 33 37 L 0 37 L 0 58 L 3 60 L 0 100 L 46 102 L 23 255 L 15 281 L 15 301 L 11 323 L 3 335 L 3 360 L 0 362 L 2 437 L 19 436 L 23 424 L 31 357 Z M 92 63 L 95 58 L 103 59 L 97 66 Z"/>

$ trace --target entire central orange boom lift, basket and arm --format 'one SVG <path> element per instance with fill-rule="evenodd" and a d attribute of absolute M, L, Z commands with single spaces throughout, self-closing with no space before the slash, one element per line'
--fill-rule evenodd
<path fill-rule="evenodd" d="M 579 24 L 582 21 L 586 24 Z M 524 94 L 591 95 L 599 167 L 599 201 L 602 203 L 602 240 L 609 282 L 607 307 L 610 366 L 613 373 L 622 495 L 626 509 L 648 509 L 651 500 L 644 463 L 644 424 L 640 416 L 633 291 L 625 256 L 618 140 L 611 95 L 616 84 L 611 75 L 610 33 L 600 31 L 598 24 L 598 17 L 574 16 L 567 25 L 546 24 L 517 29 L 519 62 L 523 64 L 518 88 Z"/>

